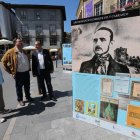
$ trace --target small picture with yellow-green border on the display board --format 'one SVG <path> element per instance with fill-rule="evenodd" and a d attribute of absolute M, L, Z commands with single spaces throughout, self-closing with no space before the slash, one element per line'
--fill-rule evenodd
<path fill-rule="evenodd" d="M 98 103 L 86 101 L 86 115 L 98 117 Z"/>

